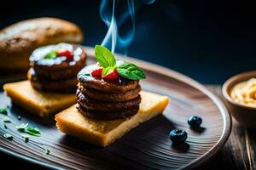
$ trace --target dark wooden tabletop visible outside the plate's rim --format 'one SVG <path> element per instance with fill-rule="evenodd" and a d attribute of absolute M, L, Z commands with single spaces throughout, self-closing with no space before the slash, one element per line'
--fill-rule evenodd
<path fill-rule="evenodd" d="M 220 86 L 208 85 L 207 88 L 222 98 Z M 234 118 L 232 118 L 232 122 L 230 139 L 224 144 L 224 148 L 211 161 L 202 165 L 200 169 L 216 170 L 220 167 L 232 170 L 256 169 L 256 131 L 241 127 Z M 7 166 L 9 168 L 18 166 L 26 169 L 41 169 L 41 167 L 6 156 L 3 153 L 0 153 L 0 164 L 2 167 Z"/>

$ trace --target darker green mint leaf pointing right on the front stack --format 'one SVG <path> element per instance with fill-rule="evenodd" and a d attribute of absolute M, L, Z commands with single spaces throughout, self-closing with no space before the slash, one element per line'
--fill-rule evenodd
<path fill-rule="evenodd" d="M 139 69 L 137 65 L 126 61 L 120 61 L 117 65 L 116 71 L 118 71 L 120 77 L 125 77 L 131 80 L 140 80 L 146 78 L 144 72 Z"/>

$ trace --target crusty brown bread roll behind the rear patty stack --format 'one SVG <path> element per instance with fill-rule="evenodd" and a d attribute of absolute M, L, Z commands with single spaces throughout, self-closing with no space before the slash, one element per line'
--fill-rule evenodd
<path fill-rule="evenodd" d="M 59 42 L 81 43 L 83 32 L 67 20 L 38 18 L 20 21 L 0 31 L 0 69 L 26 70 L 35 48 Z"/>

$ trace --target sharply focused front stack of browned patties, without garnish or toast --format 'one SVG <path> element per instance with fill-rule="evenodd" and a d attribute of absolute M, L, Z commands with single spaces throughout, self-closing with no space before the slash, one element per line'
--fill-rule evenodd
<path fill-rule="evenodd" d="M 85 116 L 103 120 L 137 114 L 141 102 L 139 81 L 119 77 L 118 82 L 107 82 L 92 77 L 90 73 L 96 66 L 86 66 L 79 72 L 77 109 Z"/>

